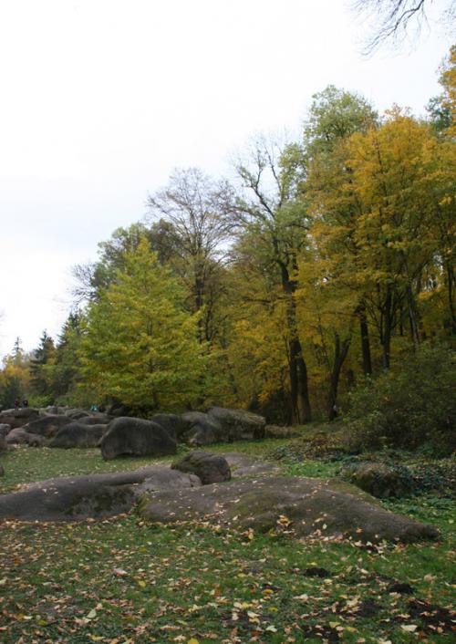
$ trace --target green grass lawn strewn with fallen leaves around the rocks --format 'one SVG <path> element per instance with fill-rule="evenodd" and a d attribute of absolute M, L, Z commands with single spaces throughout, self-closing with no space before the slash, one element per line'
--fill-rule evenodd
<path fill-rule="evenodd" d="M 220 445 L 261 455 L 287 441 Z M 21 448 L 2 457 L 2 491 L 61 474 L 137 468 L 98 450 Z M 337 462 L 285 462 L 332 476 Z M 0 641 L 454 641 L 454 504 L 420 495 L 389 509 L 440 528 L 435 544 L 365 546 L 291 535 L 160 527 L 135 514 L 78 524 L 0 525 Z M 398 585 L 399 584 L 399 585 Z"/>

